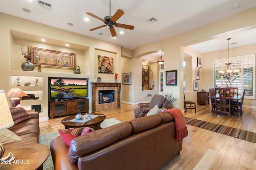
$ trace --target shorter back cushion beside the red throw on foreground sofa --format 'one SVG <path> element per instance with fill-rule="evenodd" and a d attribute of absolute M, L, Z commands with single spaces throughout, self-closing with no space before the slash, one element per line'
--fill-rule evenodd
<path fill-rule="evenodd" d="M 161 118 L 158 115 L 150 115 L 130 120 L 132 134 L 140 133 L 159 125 Z"/>

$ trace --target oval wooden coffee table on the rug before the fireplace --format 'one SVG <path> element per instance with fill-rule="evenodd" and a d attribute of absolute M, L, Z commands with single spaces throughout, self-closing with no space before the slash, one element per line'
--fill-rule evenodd
<path fill-rule="evenodd" d="M 85 113 L 82 113 L 82 115 L 84 115 L 84 114 Z M 65 119 L 63 119 L 61 121 L 61 123 L 65 126 L 65 129 L 78 128 L 78 127 L 92 127 L 94 130 L 100 129 L 100 123 L 102 123 L 106 119 L 106 116 L 101 113 L 90 113 L 90 114 L 100 115 L 100 116 L 98 116 L 82 125 L 82 123 L 68 121 L 68 120 L 74 119 L 76 116 L 76 115 L 71 115 L 71 116 L 68 116 Z"/>

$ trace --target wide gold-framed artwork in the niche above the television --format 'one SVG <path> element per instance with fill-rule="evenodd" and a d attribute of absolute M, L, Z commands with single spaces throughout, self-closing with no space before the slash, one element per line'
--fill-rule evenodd
<path fill-rule="evenodd" d="M 35 66 L 54 68 L 75 68 L 76 54 L 29 47 L 29 53 L 32 56 L 31 63 Z"/>

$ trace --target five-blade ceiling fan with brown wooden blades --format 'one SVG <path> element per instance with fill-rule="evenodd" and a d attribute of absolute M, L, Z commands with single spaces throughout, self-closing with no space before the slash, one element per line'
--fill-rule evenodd
<path fill-rule="evenodd" d="M 88 14 L 89 16 L 92 16 L 93 18 L 96 18 L 100 21 L 103 21 L 105 23 L 105 25 L 101 25 L 99 27 L 95 27 L 95 28 L 92 28 L 92 29 L 89 29 L 90 31 L 94 31 L 96 29 L 99 29 L 99 28 L 102 28 L 102 27 L 105 27 L 106 25 L 109 26 L 109 29 L 110 29 L 110 32 L 111 32 L 111 35 L 112 37 L 115 37 L 116 36 L 116 31 L 115 31 L 115 28 L 113 26 L 116 26 L 116 27 L 120 27 L 120 28 L 125 28 L 125 29 L 134 29 L 134 26 L 132 25 L 126 25 L 126 24 L 122 24 L 122 23 L 116 23 L 116 21 L 122 16 L 124 15 L 124 11 L 123 10 L 120 10 L 118 9 L 116 11 L 116 13 L 111 16 L 110 14 L 110 0 L 109 0 L 109 16 L 105 16 L 104 17 L 104 20 L 90 12 L 86 12 L 86 14 Z"/>

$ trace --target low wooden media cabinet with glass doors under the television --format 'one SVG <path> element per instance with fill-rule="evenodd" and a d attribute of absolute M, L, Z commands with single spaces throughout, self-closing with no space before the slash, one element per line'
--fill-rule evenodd
<path fill-rule="evenodd" d="M 49 102 L 49 117 L 88 113 L 88 99 Z"/>

